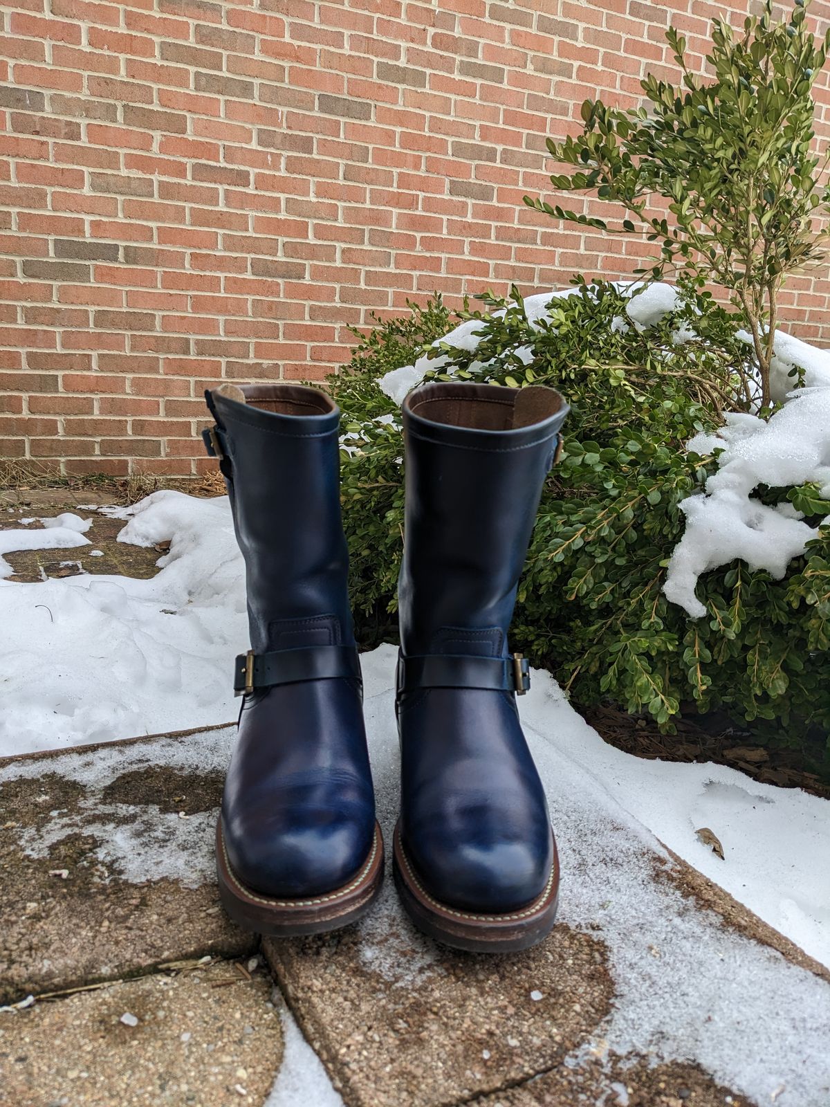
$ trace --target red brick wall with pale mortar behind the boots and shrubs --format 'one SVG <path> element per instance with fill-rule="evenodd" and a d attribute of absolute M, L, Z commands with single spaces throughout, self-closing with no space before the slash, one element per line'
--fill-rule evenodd
<path fill-rule="evenodd" d="M 546 135 L 698 54 L 707 0 L 0 6 L 0 457 L 188 475 L 206 384 L 321 377 L 346 324 L 438 289 L 630 276 L 558 229 Z M 817 0 L 821 30 L 830 0 Z M 830 107 L 828 82 L 819 91 Z M 821 131 L 828 132 L 822 118 Z M 547 170 L 547 172 L 546 172 Z M 612 250 L 613 252 L 609 252 Z M 785 319 L 830 341 L 823 277 Z M 30 462 L 31 464 L 31 462 Z"/>

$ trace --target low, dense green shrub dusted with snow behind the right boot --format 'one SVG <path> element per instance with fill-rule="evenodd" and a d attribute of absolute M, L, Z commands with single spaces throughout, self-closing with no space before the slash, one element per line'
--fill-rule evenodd
<path fill-rule="evenodd" d="M 643 330 L 627 323 L 625 293 L 580 283 L 548 323 L 529 321 L 518 291 L 487 297 L 475 352 L 442 342 L 445 309 L 430 302 L 407 324 L 383 324 L 330 387 L 351 437 L 343 454 L 344 521 L 353 601 L 364 637 L 392 637 L 403 526 L 400 411 L 377 377 L 438 340 L 430 375 L 543 383 L 571 403 L 566 445 L 547 483 L 512 639 L 548 665 L 577 702 L 603 697 L 666 728 L 682 711 L 724 710 L 759 741 L 805 747 L 817 767 L 830 730 L 830 534 L 810 544 L 781 581 L 735 563 L 698 588 L 707 617 L 691 620 L 662 593 L 683 534 L 678 503 L 715 469 L 684 451 L 722 422 L 748 345 L 705 293 Z M 694 333 L 691 334 L 691 329 Z M 378 422 L 382 420 L 382 422 Z M 812 486 L 764 489 L 817 524 L 827 505 Z M 830 768 L 830 759 L 824 763 Z"/>

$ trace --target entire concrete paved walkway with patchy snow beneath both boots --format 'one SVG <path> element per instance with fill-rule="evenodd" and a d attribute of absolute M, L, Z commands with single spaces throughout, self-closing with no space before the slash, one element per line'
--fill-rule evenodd
<path fill-rule="evenodd" d="M 367 701 L 371 733 L 388 694 Z M 350 1107 L 830 1103 L 830 974 L 567 779 L 562 921 L 537 949 L 442 948 L 391 880 L 362 923 L 260 946 L 214 882 L 232 741 L 0 763 L 0 1104 L 262 1105 L 282 997 Z M 395 758 L 373 746 L 387 842 Z"/>

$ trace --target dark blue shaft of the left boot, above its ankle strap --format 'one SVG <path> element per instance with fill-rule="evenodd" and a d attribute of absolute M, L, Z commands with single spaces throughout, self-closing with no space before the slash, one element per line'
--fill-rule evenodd
<path fill-rule="evenodd" d="M 206 400 L 217 422 L 206 441 L 224 455 L 245 559 L 253 651 L 353 644 L 336 404 L 299 384 L 222 385 Z"/>

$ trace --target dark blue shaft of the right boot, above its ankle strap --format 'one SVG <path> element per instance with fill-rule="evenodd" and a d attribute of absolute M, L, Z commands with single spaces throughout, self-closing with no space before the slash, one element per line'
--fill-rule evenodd
<path fill-rule="evenodd" d="M 404 402 L 401 648 L 507 656 L 507 630 L 568 405 L 553 389 L 427 384 Z"/>

